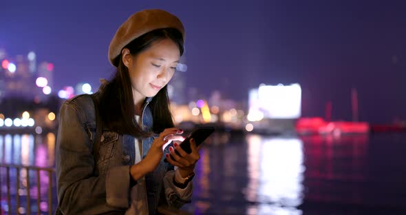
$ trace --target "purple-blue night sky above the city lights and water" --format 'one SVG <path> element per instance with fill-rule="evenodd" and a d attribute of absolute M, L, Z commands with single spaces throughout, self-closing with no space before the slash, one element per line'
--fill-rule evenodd
<path fill-rule="evenodd" d="M 248 100 L 260 83 L 300 83 L 303 116 L 406 120 L 405 1 L 8 1 L 0 7 L 0 48 L 36 52 L 55 65 L 56 89 L 98 86 L 113 68 L 111 38 L 133 12 L 162 8 L 186 28 L 186 86 L 206 96 Z"/>

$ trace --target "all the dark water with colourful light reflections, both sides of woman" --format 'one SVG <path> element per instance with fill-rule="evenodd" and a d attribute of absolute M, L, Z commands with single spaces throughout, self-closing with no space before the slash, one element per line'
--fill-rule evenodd
<path fill-rule="evenodd" d="M 0 161 L 53 167 L 55 138 L 54 134 L 0 135 Z M 345 214 L 359 214 L 363 212 L 359 205 L 366 205 L 364 210 L 374 214 L 372 205 L 400 207 L 406 201 L 406 176 L 400 174 L 406 169 L 404 143 L 406 135 L 373 136 L 371 140 L 368 135 L 214 134 L 200 151 L 193 202 L 182 209 L 191 214 L 331 214 L 345 208 Z M 27 174 L 20 170 L 21 196 L 27 196 Z M 29 174 L 35 213 L 36 172 Z M 47 172 L 40 174 L 40 209 L 45 212 L 49 178 Z M 16 181 L 16 170 L 10 175 Z M 4 168 L 0 168 L 0 180 L 1 205 L 6 209 Z M 52 181 L 56 194 L 54 175 Z M 16 194 L 17 190 L 11 192 Z M 387 196 L 389 193 L 392 196 Z M 53 204 L 55 209 L 55 195 Z M 368 207 L 372 209 L 365 209 Z"/>

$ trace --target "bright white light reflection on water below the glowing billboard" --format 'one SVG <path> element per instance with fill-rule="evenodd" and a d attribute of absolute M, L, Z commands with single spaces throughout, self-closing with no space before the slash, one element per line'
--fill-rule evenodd
<path fill-rule="evenodd" d="M 249 135 L 246 200 L 256 203 L 246 214 L 301 214 L 302 143 L 292 137 Z"/>

